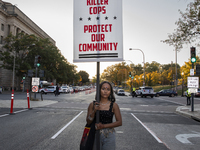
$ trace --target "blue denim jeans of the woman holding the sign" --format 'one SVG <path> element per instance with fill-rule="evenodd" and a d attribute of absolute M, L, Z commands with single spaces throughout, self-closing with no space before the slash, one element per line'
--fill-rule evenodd
<path fill-rule="evenodd" d="M 96 150 L 96 140 L 94 141 L 93 150 Z M 100 130 L 100 150 L 115 150 L 115 130 L 114 129 Z"/>

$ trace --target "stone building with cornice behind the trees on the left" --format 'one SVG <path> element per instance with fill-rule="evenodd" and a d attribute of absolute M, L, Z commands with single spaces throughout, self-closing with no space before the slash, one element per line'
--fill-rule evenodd
<path fill-rule="evenodd" d="M 55 41 L 27 17 L 19 8 L 11 3 L 0 0 L 0 48 L 3 46 L 3 39 L 12 32 L 16 35 L 20 32 L 34 34 L 40 38 L 48 38 L 54 45 Z M 1 57 L 1 56 L 0 56 Z M 3 62 L 0 61 L 0 66 Z M 13 72 L 0 68 L 0 87 L 10 89 L 12 87 Z M 15 85 L 17 80 L 15 78 Z M 16 86 L 15 86 L 16 87 Z"/>

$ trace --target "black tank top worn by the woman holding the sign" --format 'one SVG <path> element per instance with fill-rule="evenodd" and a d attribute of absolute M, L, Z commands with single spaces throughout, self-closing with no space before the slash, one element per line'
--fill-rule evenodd
<path fill-rule="evenodd" d="M 112 112 L 112 108 L 113 108 L 113 102 L 110 103 L 110 109 L 109 110 L 100 110 L 99 111 L 99 116 L 100 116 L 100 122 L 102 124 L 108 124 L 108 123 L 112 123 L 113 121 L 113 112 Z"/>

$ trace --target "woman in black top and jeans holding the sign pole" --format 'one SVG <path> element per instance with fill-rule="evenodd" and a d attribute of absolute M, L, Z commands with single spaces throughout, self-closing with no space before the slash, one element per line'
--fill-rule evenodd
<path fill-rule="evenodd" d="M 99 88 L 100 102 L 92 102 L 88 106 L 86 121 L 91 124 L 95 118 L 95 113 L 99 110 L 100 122 L 95 124 L 96 130 L 100 130 L 100 150 L 115 150 L 115 127 L 122 125 L 122 117 L 118 104 L 115 102 L 115 96 L 112 85 L 104 81 Z M 115 122 L 113 122 L 115 115 Z M 96 142 L 94 142 L 96 149 Z"/>

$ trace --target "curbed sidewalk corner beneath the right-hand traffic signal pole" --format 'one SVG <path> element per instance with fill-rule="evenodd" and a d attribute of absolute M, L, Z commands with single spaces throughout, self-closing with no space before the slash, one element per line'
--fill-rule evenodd
<path fill-rule="evenodd" d="M 190 106 L 179 106 L 176 108 L 176 112 L 178 114 L 181 114 L 183 116 L 192 118 L 194 120 L 200 121 L 200 104 L 194 105 L 194 111 L 191 111 L 191 105 Z"/>

